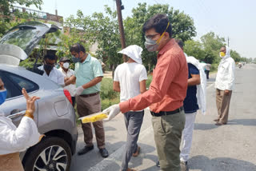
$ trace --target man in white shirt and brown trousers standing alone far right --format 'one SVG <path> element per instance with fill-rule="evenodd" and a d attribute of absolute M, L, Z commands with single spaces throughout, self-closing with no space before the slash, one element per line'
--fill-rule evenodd
<path fill-rule="evenodd" d="M 221 62 L 218 65 L 216 76 L 216 105 L 218 109 L 218 118 L 215 125 L 225 125 L 229 117 L 230 99 L 234 89 L 234 59 L 230 57 L 228 46 L 222 46 L 220 50 Z"/>

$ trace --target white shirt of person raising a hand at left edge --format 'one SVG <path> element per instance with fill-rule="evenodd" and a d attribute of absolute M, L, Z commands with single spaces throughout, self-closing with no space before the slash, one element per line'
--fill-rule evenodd
<path fill-rule="evenodd" d="M 30 117 L 22 117 L 18 128 L 0 113 L 0 155 L 24 151 L 38 143 L 40 133 Z"/>

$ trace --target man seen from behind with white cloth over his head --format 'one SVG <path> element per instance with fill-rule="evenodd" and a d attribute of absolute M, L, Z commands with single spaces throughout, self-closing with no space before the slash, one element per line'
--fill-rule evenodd
<path fill-rule="evenodd" d="M 142 48 L 137 45 L 128 46 L 118 52 L 126 54 L 128 61 L 119 65 L 114 71 L 114 91 L 120 92 L 120 101 L 127 101 L 146 91 L 146 68 L 142 65 Z M 138 134 L 142 127 L 144 110 L 124 113 L 127 140 L 126 149 L 122 155 L 122 171 L 132 171 L 128 168 L 130 157 L 137 157 L 140 147 L 137 145 Z"/>

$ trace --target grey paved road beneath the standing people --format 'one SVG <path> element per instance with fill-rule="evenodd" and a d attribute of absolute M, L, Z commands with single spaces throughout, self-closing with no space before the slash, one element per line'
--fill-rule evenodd
<path fill-rule="evenodd" d="M 198 113 L 194 139 L 188 165 L 191 171 L 256 171 L 256 65 L 247 64 L 236 69 L 235 90 L 230 102 L 230 117 L 227 125 L 216 126 L 215 74 L 207 82 L 207 113 Z M 118 171 L 122 150 L 126 142 L 126 129 L 122 114 L 105 123 L 106 149 L 110 157 L 103 159 L 98 153 L 94 140 L 94 150 L 85 155 L 74 155 L 71 171 Z M 160 170 L 154 145 L 151 116 L 146 110 L 138 144 L 141 154 L 133 157 L 130 167 L 137 170 Z M 83 136 L 79 129 L 77 150 L 82 149 Z"/>

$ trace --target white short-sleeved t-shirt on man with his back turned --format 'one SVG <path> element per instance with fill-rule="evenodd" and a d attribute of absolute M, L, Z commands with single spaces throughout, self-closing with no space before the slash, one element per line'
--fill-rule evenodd
<path fill-rule="evenodd" d="M 114 71 L 114 82 L 120 84 L 120 101 L 140 94 L 139 82 L 147 79 L 146 68 L 136 62 L 122 63 Z"/>

